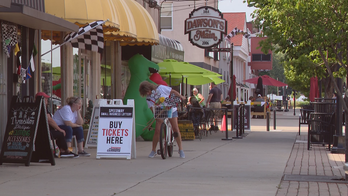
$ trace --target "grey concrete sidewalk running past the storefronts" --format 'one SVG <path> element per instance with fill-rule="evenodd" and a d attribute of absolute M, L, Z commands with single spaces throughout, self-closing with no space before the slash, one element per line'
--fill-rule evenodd
<path fill-rule="evenodd" d="M 251 119 L 252 131 L 243 139 L 222 141 L 225 133 L 218 131 L 202 136 L 202 141 L 183 141 L 184 159 L 179 158 L 177 146 L 173 157 L 166 160 L 160 155 L 148 158 L 152 143 L 137 141 L 137 158 L 132 160 L 97 160 L 96 149 L 86 149 L 91 157 L 56 158 L 55 166 L 4 163 L 0 166 L 0 195 L 308 195 L 308 191 L 301 192 L 302 185 L 294 186 L 302 182 L 282 181 L 284 172 L 304 164 L 289 162 L 292 157 L 302 161 L 305 151 L 294 145 L 298 116 L 279 112 L 277 124 L 282 129 L 277 126 L 278 131 L 266 132 L 266 120 Z M 301 136 L 305 131 L 303 127 Z M 232 136 L 235 132 L 229 132 Z M 330 163 L 340 164 L 335 159 Z M 346 184 L 339 186 L 339 195 L 347 195 Z M 327 193 L 317 190 L 314 194 Z"/>

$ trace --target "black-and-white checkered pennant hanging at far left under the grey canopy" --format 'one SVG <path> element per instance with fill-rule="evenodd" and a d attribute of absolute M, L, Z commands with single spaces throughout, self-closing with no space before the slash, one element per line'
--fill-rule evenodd
<path fill-rule="evenodd" d="M 3 51 L 10 57 L 11 46 L 17 44 L 16 26 L 1 23 Z"/>

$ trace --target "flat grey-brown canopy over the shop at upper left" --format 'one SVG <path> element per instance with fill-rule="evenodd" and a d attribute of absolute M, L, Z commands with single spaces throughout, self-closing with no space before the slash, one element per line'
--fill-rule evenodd
<path fill-rule="evenodd" d="M 32 29 L 70 32 L 79 30 L 76 24 L 18 3 L 11 3 L 10 8 L 0 7 L 0 20 Z"/>

